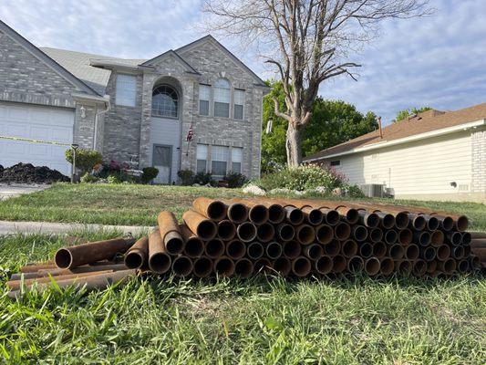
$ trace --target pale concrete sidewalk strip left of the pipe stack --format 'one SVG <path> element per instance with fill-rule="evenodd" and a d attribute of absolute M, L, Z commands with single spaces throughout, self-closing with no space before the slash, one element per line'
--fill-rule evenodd
<path fill-rule="evenodd" d="M 139 235 L 140 232 L 148 232 L 152 227 L 143 225 L 104 225 L 104 224 L 76 224 L 76 223 L 51 223 L 51 222 L 10 222 L 0 221 L 0 235 L 16 234 L 43 234 L 63 235 L 72 231 L 89 230 L 98 231 L 118 230 L 124 234 Z"/>

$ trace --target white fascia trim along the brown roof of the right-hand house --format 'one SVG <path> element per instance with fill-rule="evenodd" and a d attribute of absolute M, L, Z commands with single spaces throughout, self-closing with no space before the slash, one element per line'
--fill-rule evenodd
<path fill-rule="evenodd" d="M 468 130 L 468 129 L 474 128 L 474 127 L 481 127 L 483 125 L 486 125 L 486 120 L 471 121 L 469 123 L 464 123 L 464 124 L 460 124 L 460 125 L 453 126 L 453 127 L 442 128 L 440 130 L 430 130 L 430 131 L 427 131 L 425 133 L 419 133 L 419 134 L 415 134 L 413 136 L 399 138 L 398 140 L 379 141 L 377 143 L 369 144 L 369 145 L 366 145 L 366 146 L 363 146 L 363 147 L 357 147 L 356 149 L 349 150 L 349 151 L 329 154 L 329 155 L 326 155 L 326 156 L 323 156 L 323 157 L 316 157 L 315 159 L 306 159 L 304 162 L 322 161 L 322 160 L 328 160 L 328 159 L 332 159 L 334 157 L 344 156 L 344 155 L 358 153 L 358 152 L 378 150 L 378 149 L 385 148 L 385 147 L 395 146 L 397 144 L 407 143 L 407 142 L 411 142 L 411 141 L 426 140 L 428 138 L 438 137 L 438 136 L 450 134 L 450 133 L 460 131 L 460 130 Z"/>

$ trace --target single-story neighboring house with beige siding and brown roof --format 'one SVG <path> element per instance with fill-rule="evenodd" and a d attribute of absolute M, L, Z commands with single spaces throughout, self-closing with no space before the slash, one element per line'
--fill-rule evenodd
<path fill-rule="evenodd" d="M 305 158 L 399 199 L 486 203 L 486 103 L 428 110 Z"/>

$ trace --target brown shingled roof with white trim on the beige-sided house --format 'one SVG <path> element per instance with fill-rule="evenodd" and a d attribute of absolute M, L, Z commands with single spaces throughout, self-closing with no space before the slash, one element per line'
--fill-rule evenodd
<path fill-rule="evenodd" d="M 355 153 L 368 148 L 386 147 L 392 144 L 391 142 L 393 141 L 398 144 L 398 142 L 402 140 L 407 141 L 408 138 L 413 136 L 424 135 L 432 137 L 437 135 L 440 130 L 448 130 L 451 127 L 458 127 L 474 121 L 482 121 L 482 124 L 484 124 L 484 120 L 486 120 L 486 103 L 455 111 L 428 110 L 409 119 L 398 120 L 383 128 L 383 138 L 380 138 L 379 130 L 373 130 L 353 140 L 307 156 L 304 161 L 318 161 L 327 157 Z"/>

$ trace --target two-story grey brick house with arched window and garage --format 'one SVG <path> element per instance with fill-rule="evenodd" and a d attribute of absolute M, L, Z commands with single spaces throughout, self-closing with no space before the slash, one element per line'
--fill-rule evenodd
<path fill-rule="evenodd" d="M 264 81 L 212 36 L 147 59 L 38 48 L 0 22 L 0 135 L 77 143 L 105 160 L 260 172 Z M 186 141 L 189 130 L 192 141 Z M 0 164 L 68 173 L 66 148 L 0 139 Z"/>

